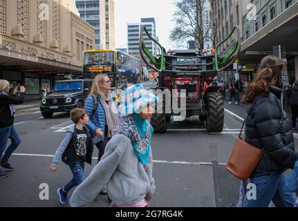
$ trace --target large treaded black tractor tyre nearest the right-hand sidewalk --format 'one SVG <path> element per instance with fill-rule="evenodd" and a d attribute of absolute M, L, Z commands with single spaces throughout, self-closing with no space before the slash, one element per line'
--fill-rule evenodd
<path fill-rule="evenodd" d="M 209 115 L 206 119 L 209 133 L 221 133 L 225 122 L 225 108 L 221 93 L 209 93 L 207 95 Z"/>

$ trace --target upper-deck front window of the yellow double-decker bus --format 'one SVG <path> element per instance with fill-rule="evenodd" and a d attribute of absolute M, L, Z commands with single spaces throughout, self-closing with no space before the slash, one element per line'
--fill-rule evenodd
<path fill-rule="evenodd" d="M 115 52 L 102 51 L 85 53 L 84 64 L 90 66 L 115 64 Z"/>

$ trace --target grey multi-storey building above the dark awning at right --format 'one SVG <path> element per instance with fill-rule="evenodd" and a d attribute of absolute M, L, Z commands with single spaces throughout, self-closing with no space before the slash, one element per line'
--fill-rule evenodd
<path fill-rule="evenodd" d="M 261 59 L 281 46 L 288 63 L 290 84 L 298 79 L 298 0 L 211 0 L 216 26 L 216 44 L 227 37 L 234 25 L 241 30 L 240 77 L 250 81 Z M 221 51 L 229 45 L 229 39 Z M 232 68 L 231 68 L 232 69 Z"/>

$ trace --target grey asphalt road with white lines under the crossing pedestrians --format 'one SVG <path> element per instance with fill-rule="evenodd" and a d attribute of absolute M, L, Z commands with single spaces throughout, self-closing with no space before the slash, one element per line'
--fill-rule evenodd
<path fill-rule="evenodd" d="M 171 119 L 167 133 L 153 135 L 156 193 L 150 206 L 234 204 L 239 180 L 225 171 L 224 164 L 232 152 L 241 123 L 225 115 L 223 133 L 208 134 L 198 117 L 185 122 L 174 120 Z M 71 172 L 63 163 L 56 173 L 51 173 L 49 167 L 64 131 L 72 124 L 68 115 L 57 113 L 52 119 L 44 119 L 39 111 L 25 111 L 17 115 L 15 124 L 22 142 L 10 158 L 15 171 L 0 180 L 0 206 L 64 207 L 59 204 L 57 189 L 71 179 Z M 97 156 L 96 148 L 93 156 Z M 216 167 L 214 161 L 219 166 Z M 93 160 L 93 166 L 95 163 Z M 86 165 L 86 175 L 93 166 Z M 48 200 L 39 199 L 40 184 L 48 184 Z M 91 206 L 109 206 L 109 201 L 106 196 L 100 196 Z"/>

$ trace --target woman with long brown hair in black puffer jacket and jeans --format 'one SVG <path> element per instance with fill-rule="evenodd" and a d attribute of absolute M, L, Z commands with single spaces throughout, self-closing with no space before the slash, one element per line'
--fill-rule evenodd
<path fill-rule="evenodd" d="M 284 63 L 274 56 L 261 61 L 257 77 L 243 99 L 248 104 L 245 141 L 263 148 L 265 153 L 250 176 L 257 187 L 257 199 L 246 200 L 245 206 L 294 206 L 295 197 L 286 189 L 287 169 L 298 160 L 291 122 L 283 111 L 282 70 Z"/>

